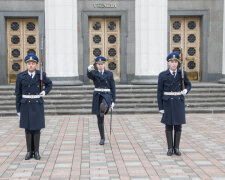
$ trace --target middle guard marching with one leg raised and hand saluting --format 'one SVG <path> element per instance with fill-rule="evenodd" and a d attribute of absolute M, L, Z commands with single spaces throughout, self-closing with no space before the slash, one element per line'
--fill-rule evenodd
<path fill-rule="evenodd" d="M 87 76 L 93 80 L 95 90 L 93 92 L 92 114 L 97 115 L 98 128 L 101 140 L 100 145 L 105 143 L 104 134 L 104 115 L 107 114 L 109 108 L 114 107 L 116 100 L 116 89 L 113 73 L 104 69 L 106 58 L 98 56 L 95 59 L 97 70 L 93 70 L 90 65 L 87 70 Z"/>

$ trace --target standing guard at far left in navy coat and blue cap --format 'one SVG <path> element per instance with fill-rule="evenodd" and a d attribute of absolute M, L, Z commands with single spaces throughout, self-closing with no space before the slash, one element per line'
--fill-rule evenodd
<path fill-rule="evenodd" d="M 39 160 L 40 130 L 45 128 L 43 96 L 52 89 L 52 81 L 43 73 L 45 88 L 40 92 L 40 71 L 36 70 L 38 57 L 28 54 L 24 59 L 27 70 L 17 75 L 16 110 L 20 116 L 20 128 L 25 129 L 27 154 L 25 160 Z"/>

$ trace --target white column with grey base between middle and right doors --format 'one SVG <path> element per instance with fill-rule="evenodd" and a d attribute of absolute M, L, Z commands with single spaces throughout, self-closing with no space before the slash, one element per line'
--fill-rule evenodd
<path fill-rule="evenodd" d="M 167 0 L 135 1 L 135 78 L 133 84 L 156 84 L 167 62 Z"/>

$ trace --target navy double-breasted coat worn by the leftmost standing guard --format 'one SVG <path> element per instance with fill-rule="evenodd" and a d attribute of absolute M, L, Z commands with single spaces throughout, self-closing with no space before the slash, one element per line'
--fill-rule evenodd
<path fill-rule="evenodd" d="M 52 89 L 52 81 L 43 73 L 44 91 L 46 94 Z M 40 130 L 45 128 L 44 100 L 22 98 L 22 95 L 40 94 L 40 71 L 36 70 L 32 79 L 28 71 L 21 72 L 16 79 L 16 110 L 20 112 L 20 128 Z"/>

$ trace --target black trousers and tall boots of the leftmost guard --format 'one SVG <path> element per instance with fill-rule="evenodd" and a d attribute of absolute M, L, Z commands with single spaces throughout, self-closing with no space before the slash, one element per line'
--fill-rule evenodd
<path fill-rule="evenodd" d="M 27 142 L 27 154 L 25 160 L 29 160 L 34 157 L 39 160 L 39 144 L 40 144 L 40 130 L 28 130 L 25 129 L 26 142 Z"/>

